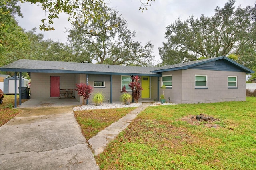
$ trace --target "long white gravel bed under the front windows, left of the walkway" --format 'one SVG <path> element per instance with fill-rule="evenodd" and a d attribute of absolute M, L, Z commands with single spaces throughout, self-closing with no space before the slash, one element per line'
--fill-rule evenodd
<path fill-rule="evenodd" d="M 123 103 L 112 103 L 112 104 L 102 104 L 100 106 L 96 105 L 82 105 L 76 106 L 73 108 L 74 111 L 82 111 L 82 110 L 93 110 L 93 109 L 112 109 L 112 108 L 121 108 L 121 107 L 138 107 L 142 105 L 142 103 L 131 103 L 130 105 L 125 105 Z"/>

